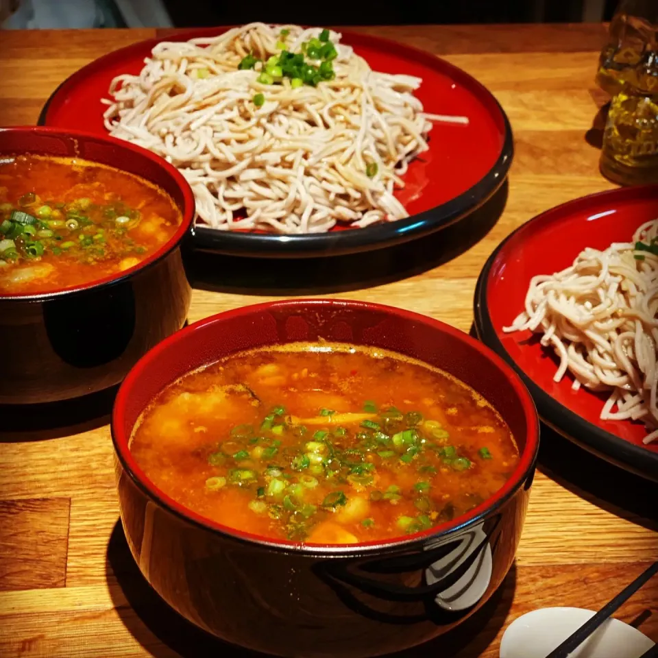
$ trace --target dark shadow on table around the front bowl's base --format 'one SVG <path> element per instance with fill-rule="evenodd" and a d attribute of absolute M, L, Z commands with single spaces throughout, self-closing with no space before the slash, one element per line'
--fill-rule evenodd
<path fill-rule="evenodd" d="M 112 529 L 106 554 L 106 580 L 114 608 L 127 631 L 154 658 L 169 658 L 175 651 L 182 658 L 265 658 L 266 654 L 222 642 L 182 618 L 149 586 L 123 534 L 121 520 Z M 504 625 L 515 591 L 516 568 L 513 564 L 502 585 L 470 618 L 446 635 L 420 644 L 402 653 L 383 658 L 426 658 L 480 655 L 491 645 Z M 118 588 L 117 588 L 118 586 Z M 121 594 L 119 595 L 119 592 Z M 128 604 L 126 606 L 125 604 Z M 161 644 L 153 642 L 153 637 Z M 468 653 L 461 653 L 468 648 Z"/>

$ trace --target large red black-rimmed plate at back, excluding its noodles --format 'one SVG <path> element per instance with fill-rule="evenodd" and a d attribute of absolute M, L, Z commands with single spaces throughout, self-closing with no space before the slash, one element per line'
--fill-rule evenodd
<path fill-rule="evenodd" d="M 226 29 L 197 29 L 167 40 L 216 36 Z M 372 69 L 422 77 L 416 95 L 426 112 L 457 114 L 470 121 L 468 125 L 435 123 L 430 132 L 430 150 L 411 164 L 404 177 L 406 186 L 398 193 L 411 217 L 363 229 L 293 236 L 197 226 L 195 247 L 268 258 L 333 256 L 379 249 L 450 226 L 482 205 L 504 182 L 513 155 L 511 127 L 498 101 L 484 86 L 430 53 L 365 34 L 342 34 L 341 43 L 354 47 Z M 106 135 L 106 106 L 101 99 L 109 98 L 110 82 L 121 73 L 138 73 L 144 58 L 163 40 L 142 41 L 84 66 L 51 95 L 40 114 L 40 125 Z"/>

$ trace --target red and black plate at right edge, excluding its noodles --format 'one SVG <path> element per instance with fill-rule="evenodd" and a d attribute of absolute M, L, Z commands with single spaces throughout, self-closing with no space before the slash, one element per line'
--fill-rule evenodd
<path fill-rule="evenodd" d="M 658 481 L 658 441 L 642 443 L 639 422 L 602 421 L 605 395 L 573 391 L 567 375 L 553 381 L 557 358 L 531 332 L 505 334 L 523 310 L 528 284 L 537 274 L 569 267 L 585 248 L 628 242 L 645 221 L 658 217 L 658 186 L 622 188 L 576 199 L 528 221 L 487 260 L 475 293 L 480 339 L 522 376 L 541 419 L 565 437 L 621 467 Z"/>

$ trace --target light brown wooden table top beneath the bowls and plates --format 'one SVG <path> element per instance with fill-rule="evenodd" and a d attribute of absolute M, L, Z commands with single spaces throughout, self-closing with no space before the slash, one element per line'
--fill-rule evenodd
<path fill-rule="evenodd" d="M 480 226 L 480 240 L 465 251 L 461 232 L 415 245 L 404 258 L 378 254 L 361 264 L 197 264 L 216 276 L 209 283 L 195 275 L 190 321 L 299 294 L 304 280 L 304 294 L 395 304 L 468 331 L 478 272 L 511 230 L 550 206 L 613 187 L 598 173 L 598 133 L 590 131 L 603 102 L 593 83 L 602 26 L 365 31 L 445 56 L 498 97 L 516 149 L 509 188 L 493 202 L 504 206 L 502 216 Z M 0 33 L 0 125 L 34 123 L 66 76 L 152 36 L 151 29 Z M 446 249 L 452 260 L 441 255 Z M 74 406 L 41 419 L 25 413 L 22 431 L 0 415 L 0 656 L 247 655 L 188 627 L 141 580 L 119 522 L 107 409 Z M 502 632 L 522 613 L 600 607 L 658 557 L 657 501 L 655 485 L 544 431 L 521 545 L 504 585 L 451 636 L 405 656 L 494 658 Z M 616 616 L 658 641 L 658 579 Z"/>

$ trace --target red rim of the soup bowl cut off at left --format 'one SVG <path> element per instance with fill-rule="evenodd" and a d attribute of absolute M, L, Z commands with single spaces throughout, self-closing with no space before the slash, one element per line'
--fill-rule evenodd
<path fill-rule="evenodd" d="M 133 267 L 130 267 L 129 269 L 126 269 L 125 271 L 121 272 L 119 275 L 105 276 L 103 278 L 93 279 L 86 283 L 78 284 L 70 288 L 55 289 L 43 293 L 37 292 L 37 293 L 29 293 L 27 295 L 14 295 L 12 293 L 0 292 L 0 303 L 5 300 L 6 301 L 11 300 L 14 302 L 21 302 L 21 301 L 42 302 L 42 301 L 54 299 L 56 297 L 62 297 L 62 295 L 73 295 L 75 293 L 92 291 L 97 288 L 119 284 L 120 282 L 123 282 L 128 278 L 132 277 L 134 274 L 138 273 L 139 271 L 142 271 L 144 269 L 147 269 L 155 265 L 160 260 L 168 256 L 171 252 L 174 251 L 174 249 L 179 247 L 184 237 L 189 232 L 191 232 L 192 223 L 195 216 L 194 193 L 192 191 L 190 184 L 185 180 L 182 173 L 180 173 L 178 169 L 173 167 L 172 164 L 169 164 L 167 160 L 164 160 L 164 158 L 160 158 L 160 156 L 152 153 L 151 151 L 141 146 L 132 144 L 130 142 L 126 142 L 117 139 L 115 137 L 102 136 L 90 132 L 84 132 L 82 130 L 69 130 L 69 129 L 62 129 L 58 127 L 49 127 L 49 126 L 41 126 L 41 125 L 18 125 L 18 126 L 0 127 L 0 140 L 3 137 L 3 135 L 8 132 L 13 132 L 19 135 L 21 134 L 28 135 L 28 134 L 36 133 L 36 134 L 49 135 L 53 137 L 69 138 L 69 139 L 73 139 L 74 141 L 75 140 L 95 141 L 95 142 L 107 143 L 108 145 L 112 145 L 113 147 L 119 149 L 120 151 L 126 151 L 124 154 L 125 159 L 129 159 L 131 154 L 138 154 L 139 156 L 143 156 L 148 160 L 150 160 L 151 162 L 153 162 L 154 164 L 156 164 L 157 167 L 164 170 L 169 175 L 169 178 L 173 179 L 174 184 L 178 186 L 178 188 L 182 193 L 183 204 L 182 204 L 182 208 L 179 208 L 180 214 L 182 216 L 180 226 L 178 226 L 178 229 L 171 236 L 171 238 L 169 238 L 169 240 L 167 240 L 167 242 L 165 242 L 164 244 L 160 245 L 160 247 L 156 249 L 156 251 L 153 252 L 153 254 L 142 260 L 137 265 L 134 265 Z M 29 149 L 23 151 L 23 153 L 39 154 L 38 151 L 31 151 Z M 86 160 L 86 158 L 80 158 L 80 159 Z M 87 161 L 95 162 L 94 160 L 87 160 Z M 99 164 L 103 164 L 103 163 L 101 162 Z M 133 174 L 130 171 L 126 171 L 125 169 L 122 169 L 121 167 L 116 167 L 114 165 L 106 165 L 106 166 L 112 167 L 113 169 L 117 169 L 117 171 L 130 173 L 130 175 L 134 175 L 137 176 L 138 178 L 143 178 L 144 180 L 147 180 L 142 175 Z M 171 195 L 169 195 L 169 197 L 171 197 Z M 171 200 L 173 201 L 173 199 Z M 178 207 L 178 204 L 175 205 Z"/>

